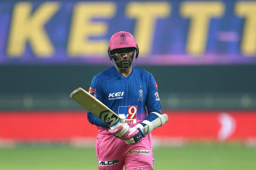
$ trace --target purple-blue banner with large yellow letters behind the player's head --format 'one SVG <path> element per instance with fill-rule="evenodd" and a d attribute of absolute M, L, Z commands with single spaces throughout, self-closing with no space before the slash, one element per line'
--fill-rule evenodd
<path fill-rule="evenodd" d="M 109 64 L 113 33 L 138 64 L 255 64 L 256 1 L 2 1 L 0 65 Z"/>

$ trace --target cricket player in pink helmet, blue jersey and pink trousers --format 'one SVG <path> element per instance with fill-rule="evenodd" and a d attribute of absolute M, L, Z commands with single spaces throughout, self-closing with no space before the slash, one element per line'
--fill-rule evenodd
<path fill-rule="evenodd" d="M 162 120 L 155 78 L 134 66 L 139 48 L 128 32 L 113 34 L 108 55 L 113 66 L 93 77 L 89 92 L 123 120 L 110 128 L 88 111 L 89 122 L 99 129 L 95 144 L 98 168 L 152 170 L 151 122 L 158 117 Z M 142 129 L 146 125 L 149 128 L 144 134 Z"/>

